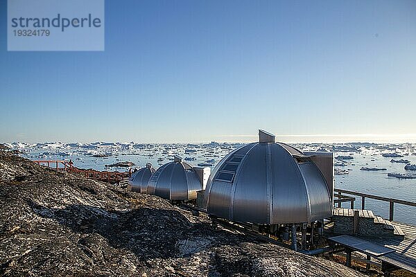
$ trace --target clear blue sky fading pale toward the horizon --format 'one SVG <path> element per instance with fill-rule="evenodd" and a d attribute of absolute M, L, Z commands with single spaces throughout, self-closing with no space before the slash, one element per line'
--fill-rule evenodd
<path fill-rule="evenodd" d="M 107 0 L 103 52 L 8 52 L 6 10 L 0 141 L 416 133 L 416 1 Z"/>

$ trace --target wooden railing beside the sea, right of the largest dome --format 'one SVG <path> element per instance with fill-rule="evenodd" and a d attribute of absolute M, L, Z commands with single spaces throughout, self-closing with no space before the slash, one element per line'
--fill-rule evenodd
<path fill-rule="evenodd" d="M 362 210 L 365 210 L 365 199 L 366 198 L 376 199 L 376 200 L 383 201 L 383 202 L 388 202 L 390 204 L 390 208 L 389 208 L 389 215 L 390 215 L 389 220 L 390 221 L 392 221 L 394 219 L 394 216 L 395 216 L 395 203 L 403 204 L 403 205 L 406 205 L 406 206 L 416 207 L 416 202 L 406 201 L 406 200 L 402 200 L 402 199 L 381 197 L 381 196 L 377 196 L 377 195 L 368 195 L 367 193 L 358 193 L 356 191 L 342 190 L 340 188 L 335 188 L 334 191 L 335 191 L 335 194 L 333 196 L 338 198 L 338 199 L 335 199 L 334 202 L 338 203 L 338 207 L 340 207 L 341 203 L 342 203 L 342 202 L 339 201 L 340 199 L 347 199 L 348 197 L 350 197 L 350 196 L 347 196 L 347 195 L 354 195 L 354 196 L 361 197 L 361 209 Z M 343 193 L 345 195 L 343 195 Z M 355 197 L 350 197 L 350 198 L 354 198 L 354 199 L 349 200 L 351 202 L 351 208 L 354 208 Z M 347 202 L 347 201 L 343 201 L 343 202 Z"/>

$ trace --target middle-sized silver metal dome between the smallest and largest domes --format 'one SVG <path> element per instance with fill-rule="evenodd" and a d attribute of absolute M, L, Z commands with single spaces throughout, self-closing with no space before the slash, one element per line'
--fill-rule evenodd
<path fill-rule="evenodd" d="M 168 200 L 191 200 L 196 199 L 198 190 L 202 190 L 202 184 L 196 171 L 175 156 L 174 161 L 156 170 L 148 181 L 147 193 Z"/>

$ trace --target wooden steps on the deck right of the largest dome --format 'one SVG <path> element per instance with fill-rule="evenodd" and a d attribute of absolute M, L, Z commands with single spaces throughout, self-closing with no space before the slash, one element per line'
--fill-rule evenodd
<path fill-rule="evenodd" d="M 400 227 L 382 217 L 374 215 L 370 210 L 351 208 L 334 208 L 333 233 L 358 236 L 404 236 Z"/>

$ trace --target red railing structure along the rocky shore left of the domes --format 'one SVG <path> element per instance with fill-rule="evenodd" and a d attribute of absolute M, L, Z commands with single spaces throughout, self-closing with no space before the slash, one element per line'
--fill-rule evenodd
<path fill-rule="evenodd" d="M 82 169 L 73 166 L 72 161 L 55 161 L 55 160 L 41 160 L 33 161 L 40 166 L 47 166 L 55 170 L 65 170 L 67 172 L 73 172 L 83 175 L 87 179 L 94 179 L 99 181 L 107 181 L 110 183 L 118 183 L 119 181 L 126 180 L 132 176 L 132 170 L 126 172 L 118 171 L 98 171 L 92 169 Z"/>

